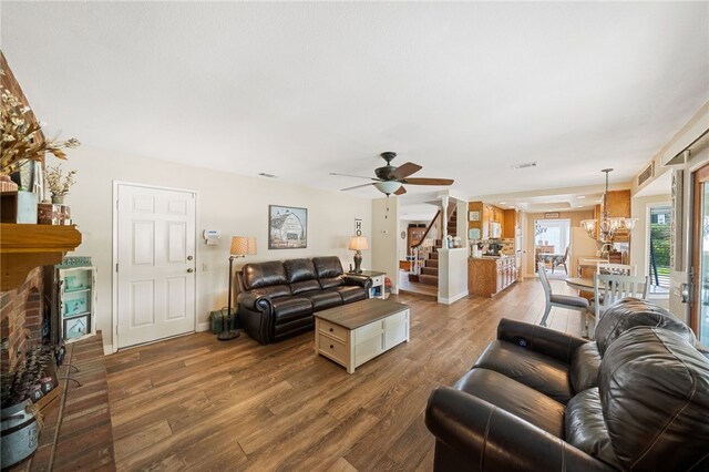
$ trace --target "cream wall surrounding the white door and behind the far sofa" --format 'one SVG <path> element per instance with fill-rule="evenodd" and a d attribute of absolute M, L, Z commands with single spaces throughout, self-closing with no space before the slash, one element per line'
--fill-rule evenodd
<path fill-rule="evenodd" d="M 48 160 L 55 164 L 53 157 Z M 199 158 L 195 157 L 198 165 Z M 245 263 L 311 256 L 339 256 L 347 270 L 354 218 L 362 218 L 363 235 L 371 239 L 371 201 L 338 192 L 314 191 L 275 178 L 246 177 L 225 172 L 126 155 L 82 145 L 72 150 L 62 167 L 78 171 L 68 204 L 83 242 L 71 255 L 91 256 L 99 269 L 97 329 L 106 346 L 113 343 L 112 245 L 113 181 L 193 189 L 197 196 L 197 326 L 206 328 L 210 310 L 225 307 L 228 287 L 228 253 L 232 235 L 255 236 L 258 254 Z M 268 205 L 308 208 L 308 247 L 268 250 Z M 393 216 L 395 220 L 395 213 Z M 206 246 L 203 229 L 220 229 L 222 244 Z M 377 243 L 372 242 L 376 248 Z M 371 266 L 371 252 L 363 252 L 362 265 Z M 203 270 L 206 264 L 207 270 Z"/>

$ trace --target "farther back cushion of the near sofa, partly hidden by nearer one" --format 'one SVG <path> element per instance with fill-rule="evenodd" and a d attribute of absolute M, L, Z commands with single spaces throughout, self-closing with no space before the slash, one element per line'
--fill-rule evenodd
<path fill-rule="evenodd" d="M 681 335 L 690 345 L 696 341 L 691 329 L 665 308 L 637 298 L 624 298 L 608 307 L 597 322 L 596 342 L 600 357 L 604 357 L 613 341 L 636 326 L 669 329 Z"/>

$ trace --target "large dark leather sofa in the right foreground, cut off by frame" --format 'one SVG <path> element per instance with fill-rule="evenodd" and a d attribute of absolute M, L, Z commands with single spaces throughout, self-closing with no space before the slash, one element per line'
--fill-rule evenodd
<path fill-rule="evenodd" d="M 625 299 L 596 341 L 503 319 L 425 423 L 435 471 L 708 471 L 709 359 L 691 330 Z"/>

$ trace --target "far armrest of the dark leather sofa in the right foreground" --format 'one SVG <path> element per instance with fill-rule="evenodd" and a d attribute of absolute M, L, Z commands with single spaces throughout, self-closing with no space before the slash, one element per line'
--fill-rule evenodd
<path fill-rule="evenodd" d="M 562 362 L 571 363 L 574 351 L 587 339 L 528 322 L 502 318 L 497 325 L 497 339 L 522 346 Z"/>

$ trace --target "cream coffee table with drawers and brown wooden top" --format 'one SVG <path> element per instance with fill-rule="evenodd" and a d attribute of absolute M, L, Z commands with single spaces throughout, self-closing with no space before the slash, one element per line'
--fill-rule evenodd
<path fill-rule="evenodd" d="M 369 298 L 315 314 L 315 351 L 348 373 L 401 342 L 409 342 L 408 305 Z"/>

